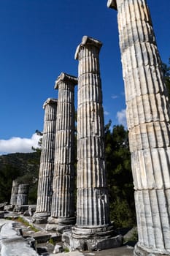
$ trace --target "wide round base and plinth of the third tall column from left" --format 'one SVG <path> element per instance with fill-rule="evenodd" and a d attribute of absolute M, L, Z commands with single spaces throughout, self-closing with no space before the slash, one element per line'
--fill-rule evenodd
<path fill-rule="evenodd" d="M 88 249 L 88 251 L 92 252 L 121 246 L 123 244 L 123 236 L 117 235 L 112 226 L 72 227 L 72 230 L 63 233 L 62 241 L 71 250 Z"/>

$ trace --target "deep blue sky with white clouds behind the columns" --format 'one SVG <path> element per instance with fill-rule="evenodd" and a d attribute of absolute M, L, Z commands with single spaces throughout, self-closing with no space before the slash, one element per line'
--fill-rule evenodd
<path fill-rule="evenodd" d="M 161 59 L 168 63 L 170 1 L 147 3 Z M 103 42 L 105 122 L 124 124 L 117 12 L 107 8 L 107 0 L 1 0 L 0 31 L 0 154 L 35 146 L 34 132 L 43 129 L 42 105 L 48 97 L 57 97 L 54 84 L 61 72 L 77 75 L 74 53 L 84 35 Z"/>

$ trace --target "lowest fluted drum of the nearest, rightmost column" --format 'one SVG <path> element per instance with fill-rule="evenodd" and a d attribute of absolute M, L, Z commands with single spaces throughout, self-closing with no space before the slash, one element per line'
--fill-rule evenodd
<path fill-rule="evenodd" d="M 139 241 L 148 249 L 170 252 L 169 189 L 135 192 Z M 139 244 L 140 245 L 140 244 Z M 166 245 L 166 246 L 165 246 Z"/>

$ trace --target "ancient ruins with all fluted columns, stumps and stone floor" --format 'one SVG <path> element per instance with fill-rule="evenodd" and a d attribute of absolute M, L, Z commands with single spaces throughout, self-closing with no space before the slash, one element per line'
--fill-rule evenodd
<path fill-rule="evenodd" d="M 36 205 L 28 204 L 29 185 L 17 180 L 10 202 L 0 205 L 2 256 L 15 256 L 17 243 L 25 255 L 170 255 L 170 108 L 150 11 L 145 0 L 108 0 L 107 7 L 112 15 L 117 12 L 138 241 L 125 247 L 123 233 L 110 219 L 99 61 L 103 44 L 85 35 L 75 45 L 78 76 L 59 71 L 58 98 L 47 98 L 43 105 Z M 18 218 L 28 228 L 19 227 Z M 53 254 L 39 246 L 51 246 L 49 241 L 55 244 Z"/>

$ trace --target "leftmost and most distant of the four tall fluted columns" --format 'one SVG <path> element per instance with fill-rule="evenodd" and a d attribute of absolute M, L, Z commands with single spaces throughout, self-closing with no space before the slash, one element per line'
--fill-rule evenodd
<path fill-rule="evenodd" d="M 42 153 L 39 167 L 39 183 L 37 192 L 36 212 L 33 222 L 47 223 L 50 217 L 53 194 L 53 170 L 55 152 L 55 129 L 57 99 L 48 98 L 43 105 L 45 109 L 44 129 L 42 137 Z"/>

